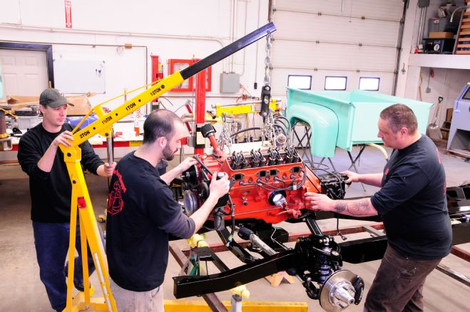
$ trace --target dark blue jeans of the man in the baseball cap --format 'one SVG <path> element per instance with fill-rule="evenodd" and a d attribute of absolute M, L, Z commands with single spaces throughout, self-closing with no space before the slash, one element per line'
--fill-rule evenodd
<path fill-rule="evenodd" d="M 43 223 L 33 221 L 34 246 L 39 264 L 39 276 L 46 286 L 47 296 L 51 306 L 56 311 L 66 307 L 67 284 L 64 269 L 68 252 L 70 223 Z M 88 247 L 88 273 L 95 271 L 93 257 Z M 80 224 L 77 220 L 76 244 L 78 257 L 75 258 L 73 284 L 83 285 L 83 270 L 81 262 Z"/>

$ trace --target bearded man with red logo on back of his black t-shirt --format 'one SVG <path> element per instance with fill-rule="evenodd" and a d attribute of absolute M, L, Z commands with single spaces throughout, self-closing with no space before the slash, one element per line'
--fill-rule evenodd
<path fill-rule="evenodd" d="M 168 184 L 196 160 L 187 158 L 161 177 L 155 168 L 180 149 L 183 121 L 170 110 L 155 110 L 143 132 L 143 145 L 119 161 L 109 187 L 106 255 L 118 311 L 163 311 L 168 233 L 190 238 L 229 190 L 228 176 L 216 180 L 215 172 L 208 199 L 187 217 Z"/>

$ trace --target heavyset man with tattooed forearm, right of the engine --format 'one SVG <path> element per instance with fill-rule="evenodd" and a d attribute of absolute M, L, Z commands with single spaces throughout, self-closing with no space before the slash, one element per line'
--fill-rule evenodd
<path fill-rule="evenodd" d="M 377 136 L 394 149 L 384 172 L 344 172 L 346 182 L 381 187 L 372 197 L 332 200 L 324 194 L 305 194 L 307 207 L 314 210 L 382 217 L 388 246 L 364 311 L 422 311 L 426 276 L 451 249 L 444 167 L 434 142 L 417 127 L 417 118 L 406 105 L 395 104 L 380 113 Z"/>

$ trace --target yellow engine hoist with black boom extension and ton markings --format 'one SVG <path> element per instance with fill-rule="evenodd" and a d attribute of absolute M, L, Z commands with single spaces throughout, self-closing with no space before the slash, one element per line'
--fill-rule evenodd
<path fill-rule="evenodd" d="M 72 197 L 71 197 L 71 220 L 70 220 L 70 241 L 68 246 L 68 263 L 73 264 L 75 257 L 75 241 L 76 241 L 76 218 L 77 208 L 78 217 L 80 218 L 80 234 L 81 234 L 81 251 L 83 259 L 87 259 L 87 248 L 86 241 L 90 246 L 90 251 L 93 256 L 93 261 L 96 267 L 96 274 L 98 274 L 98 281 L 101 286 L 104 298 L 91 298 L 93 294 L 93 288 L 90 288 L 90 281 L 88 279 L 88 264 L 87 261 L 83 261 L 83 293 L 73 298 L 73 266 L 68 266 L 68 277 L 67 277 L 67 305 L 64 311 L 78 311 L 78 310 L 95 310 L 95 311 L 117 311 L 116 303 L 111 293 L 108 275 L 108 261 L 103 247 L 103 241 L 98 231 L 98 224 L 96 223 L 96 217 L 93 212 L 91 205 L 90 196 L 86 187 L 85 178 L 83 176 L 83 170 L 80 164 L 81 161 L 81 149 L 78 147 L 81 143 L 88 140 L 93 135 L 103 135 L 104 137 L 111 139 L 112 126 L 118 120 L 126 117 L 133 113 L 138 108 L 141 108 L 146 103 L 157 98 L 168 90 L 171 90 L 176 85 L 183 83 L 187 78 L 205 70 L 214 63 L 230 56 L 231 54 L 239 51 L 242 48 L 250 45 L 251 43 L 259 40 L 260 38 L 267 36 L 276 28 L 274 24 L 269 23 L 252 33 L 238 39 L 237 41 L 230 43 L 230 45 L 216 51 L 210 56 L 203 58 L 198 63 L 189 66 L 173 73 L 172 75 L 158 80 L 150 88 L 145 90 L 143 93 L 137 95 L 131 100 L 126 101 L 118 108 L 112 110 L 109 113 L 105 113 L 101 106 L 93 108 L 98 120 L 94 121 L 85 128 L 73 131 L 73 141 L 70 147 L 59 145 L 63 157 L 66 162 L 68 175 L 72 184 Z M 78 126 L 77 126 L 78 128 Z M 86 237 L 86 239 L 83 239 Z"/>

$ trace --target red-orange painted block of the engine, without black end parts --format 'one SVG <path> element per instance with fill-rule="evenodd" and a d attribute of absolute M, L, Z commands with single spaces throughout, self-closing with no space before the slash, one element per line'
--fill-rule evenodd
<path fill-rule="evenodd" d="M 297 152 L 295 154 L 297 155 Z M 301 209 L 307 208 L 304 202 L 305 192 L 321 192 L 320 180 L 303 164 L 298 155 L 292 161 L 292 158 L 287 156 L 289 151 L 259 150 L 257 155 L 262 157 L 261 164 L 264 162 L 264 165 L 257 162 L 259 167 L 253 167 L 253 152 L 238 152 L 237 155 L 234 153 L 232 156 L 222 157 L 201 156 L 200 160 L 210 172 L 228 174 L 232 184 L 230 197 L 235 219 L 262 219 L 267 223 L 277 224 L 285 219 L 300 217 Z M 272 160 L 270 155 L 277 155 L 277 159 Z M 236 157 L 241 158 L 245 165 L 240 167 Z M 260 157 L 257 160 L 260 160 Z M 198 165 L 199 172 L 201 167 Z M 201 176 L 198 174 L 199 182 L 204 183 Z M 207 189 L 207 184 L 205 185 Z M 279 194 L 285 201 L 275 201 L 280 198 Z M 199 198 L 198 207 L 202 203 L 203 199 Z M 230 204 L 224 209 L 224 218 L 230 219 Z"/>

